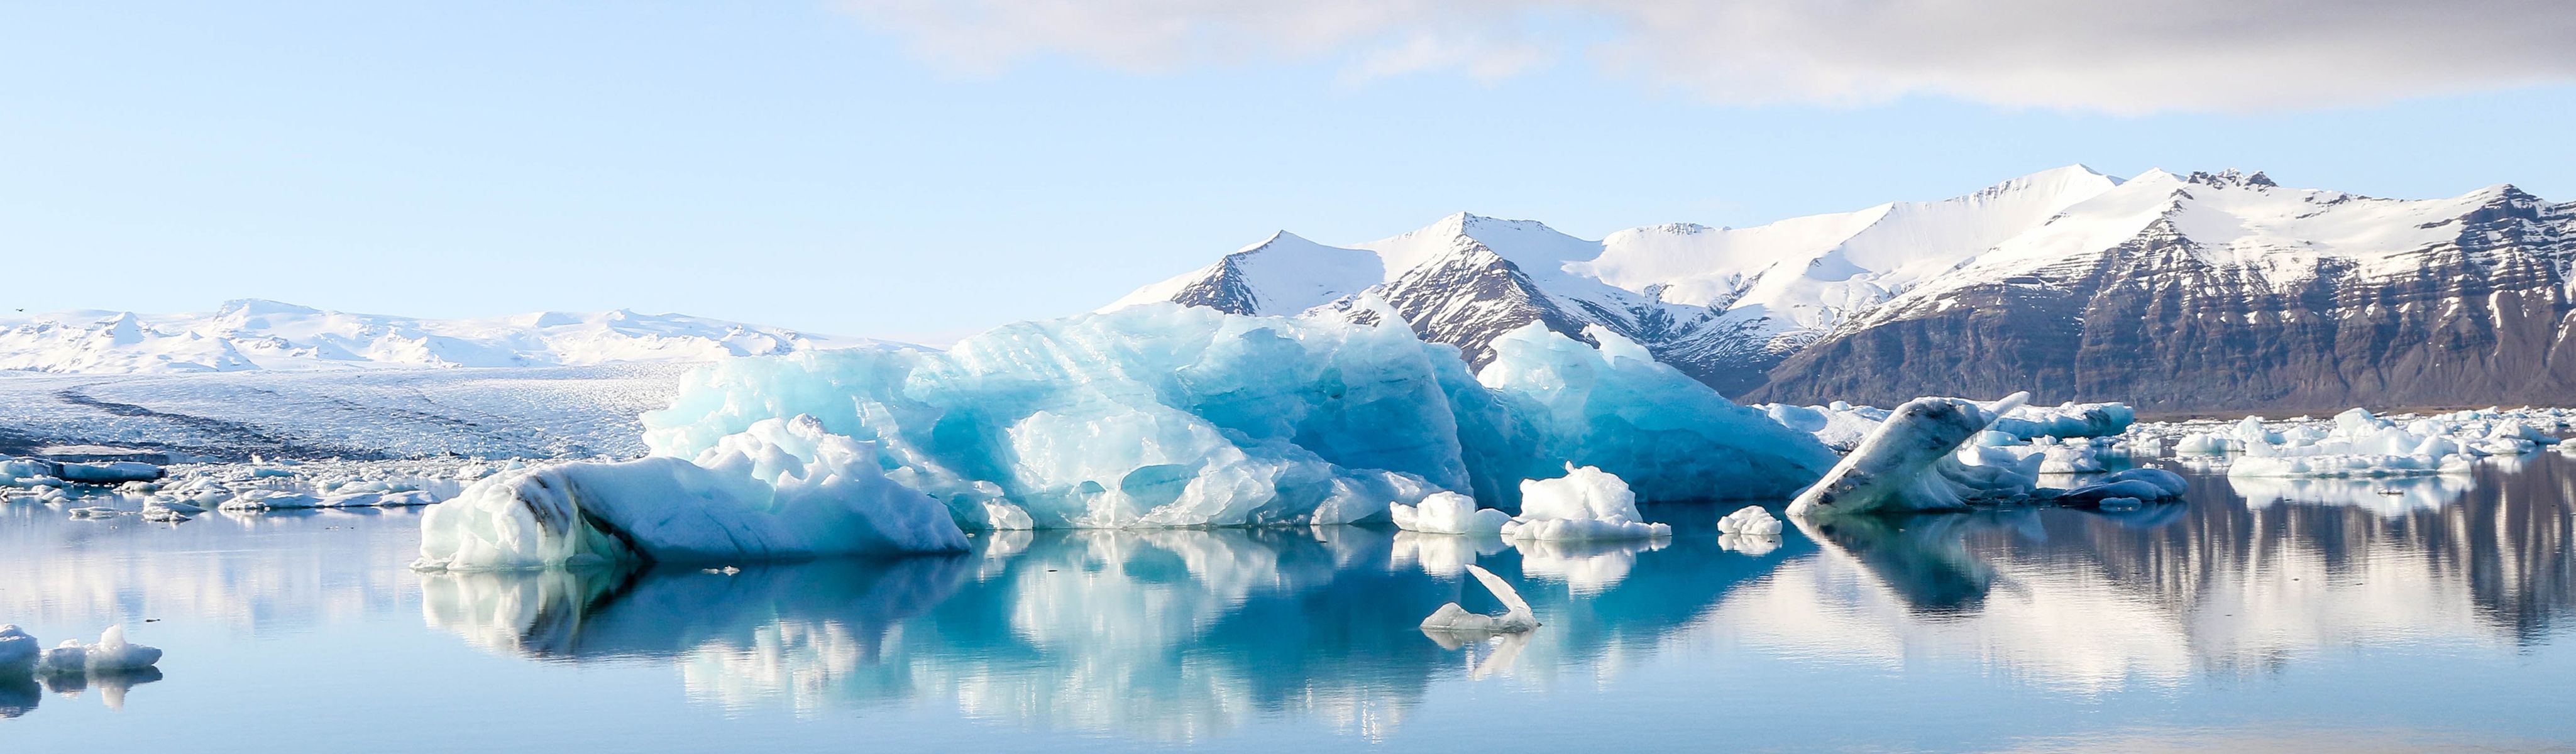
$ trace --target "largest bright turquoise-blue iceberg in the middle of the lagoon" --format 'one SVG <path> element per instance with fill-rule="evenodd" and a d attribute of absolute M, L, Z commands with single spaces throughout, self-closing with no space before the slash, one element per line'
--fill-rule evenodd
<path fill-rule="evenodd" d="M 644 417 L 654 455 L 811 414 L 876 440 L 886 476 L 966 528 L 1188 528 L 1383 520 L 1432 492 L 1512 504 L 1566 461 L 1646 497 L 1788 494 L 1832 450 L 1643 347 L 1543 327 L 1455 347 L 1396 319 L 1239 317 L 1172 304 L 1007 324 L 945 353 L 724 360 Z"/>

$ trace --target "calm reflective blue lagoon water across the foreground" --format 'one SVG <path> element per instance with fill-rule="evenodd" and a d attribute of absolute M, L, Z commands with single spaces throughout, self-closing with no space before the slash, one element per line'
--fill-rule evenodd
<path fill-rule="evenodd" d="M 417 517 L 0 507 L 0 623 L 157 679 L 0 679 L 0 749 L 2576 749 L 2576 461 L 1718 546 L 1005 533 L 739 574 L 422 576 Z M 1492 600 L 1546 628 L 1448 648 Z M 155 623 L 139 623 L 155 620 Z"/>

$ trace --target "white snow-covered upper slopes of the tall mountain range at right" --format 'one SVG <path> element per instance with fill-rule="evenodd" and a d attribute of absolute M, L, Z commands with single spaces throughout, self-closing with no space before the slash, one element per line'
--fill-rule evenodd
<path fill-rule="evenodd" d="M 2192 288 L 2190 301 L 2262 309 L 2259 317 L 2239 311 L 2239 319 L 2269 322 L 2303 317 L 2287 309 L 2311 306 L 2308 299 L 2342 296 L 2367 306 L 2385 299 L 2380 288 L 2414 286 L 2445 265 L 2494 270 L 2504 280 L 2499 288 L 2571 270 L 2576 206 L 2545 203 L 2512 185 L 2398 201 L 2285 188 L 2269 175 L 2239 170 L 2148 170 L 2123 180 L 2069 165 L 1942 201 L 1896 201 L 1744 229 L 1656 224 L 1579 239 L 1538 221 L 1453 214 L 1358 244 L 1319 244 L 1280 232 L 1208 268 L 1144 286 L 1108 309 L 1180 301 L 1270 317 L 1324 309 L 1363 322 L 1394 311 L 1425 340 L 1466 350 L 1471 365 L 1492 358 L 1492 337 L 1528 322 L 1564 335 L 1605 327 L 1726 394 L 1826 401 L 1844 396 L 1834 394 L 1837 386 L 1759 389 L 1775 386 L 1783 376 L 1772 368 L 1811 345 L 1880 324 L 1953 309 L 1989 311 L 1999 304 L 1984 299 L 2012 299 L 2014 291 L 2081 304 L 2079 293 L 2092 291 L 2084 286 L 2099 286 L 2089 278 L 2099 270 L 2146 270 L 2141 275 Z M 2486 296 L 2483 286 L 2434 296 Z M 2012 324 L 2030 332 L 1989 340 L 2056 337 L 2030 322 L 2040 319 Z M 2050 401 L 2130 399 L 2038 386 Z M 1909 383 L 1896 394 L 1924 391 L 1991 386 Z M 2316 396 L 2378 399 L 2367 389 Z"/>

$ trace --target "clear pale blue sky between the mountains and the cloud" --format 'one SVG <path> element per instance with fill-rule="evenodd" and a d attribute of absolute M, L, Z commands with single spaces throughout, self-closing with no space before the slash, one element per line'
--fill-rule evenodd
<path fill-rule="evenodd" d="M 2084 87 L 2084 67 L 2030 51 L 2007 69 L 2076 85 L 1870 87 L 1891 77 L 1832 62 L 1749 87 L 1672 75 L 1723 59 L 1618 59 L 1615 21 L 1556 10 L 1512 21 L 1517 46 L 1406 46 L 1414 21 L 1370 18 L 1244 54 L 1211 36 L 1211 54 L 907 3 L 0 8 L 0 309 L 28 311 L 629 306 L 940 340 L 1090 309 L 1273 229 L 1363 242 L 1450 211 L 1600 237 L 2069 162 L 2576 198 L 2558 72 L 2380 93 L 2388 72 L 2290 57 L 2295 77 L 2200 98 L 2218 87 Z M 2491 64 L 2532 67 L 2512 54 Z M 2331 95 L 2285 95 L 2308 90 Z"/>

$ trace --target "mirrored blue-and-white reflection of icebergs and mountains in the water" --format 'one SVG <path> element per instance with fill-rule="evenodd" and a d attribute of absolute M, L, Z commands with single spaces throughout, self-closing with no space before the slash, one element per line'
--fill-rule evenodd
<path fill-rule="evenodd" d="M 2429 494 L 2419 494 L 2432 489 Z M 2239 494 L 2246 492 L 2246 494 Z M 2251 497 L 2251 499 L 2249 499 Z M 2396 504 L 2391 504 L 2396 499 Z M 1659 543 L 1314 530 L 994 533 L 945 558 L 422 576 L 430 625 L 541 661 L 662 661 L 690 697 L 801 713 L 945 700 L 971 718 L 1188 741 L 1255 718 L 1401 726 L 1445 682 L 1582 687 L 1685 646 L 1816 667 L 1958 664 L 2107 692 L 2331 651 L 2519 651 L 2576 605 L 2576 461 L 2450 481 L 2231 484 L 2133 512 L 1798 522 L 1749 556 L 1716 510 Z M 1443 643 L 1422 615 L 1546 625 Z M 1713 641 L 1710 641 L 1713 638 Z"/>

